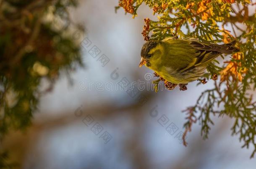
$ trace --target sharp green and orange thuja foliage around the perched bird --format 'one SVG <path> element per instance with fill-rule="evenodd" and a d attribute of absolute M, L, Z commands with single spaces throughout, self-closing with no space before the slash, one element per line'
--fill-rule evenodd
<path fill-rule="evenodd" d="M 243 147 L 253 147 L 256 153 L 256 5 L 250 0 L 119 0 L 116 8 L 136 17 L 141 4 L 146 4 L 158 15 L 157 20 L 145 18 L 144 40 L 167 37 L 198 38 L 212 43 L 237 40 L 240 51 L 223 63 L 209 64 L 205 78 L 214 87 L 201 93 L 194 106 L 188 107 L 185 132 L 193 123 L 201 124 L 201 135 L 207 138 L 212 116 L 234 119 L 232 135 L 238 135 Z M 218 79 L 217 79 L 218 78 Z M 185 139 L 183 139 L 186 145 Z"/>

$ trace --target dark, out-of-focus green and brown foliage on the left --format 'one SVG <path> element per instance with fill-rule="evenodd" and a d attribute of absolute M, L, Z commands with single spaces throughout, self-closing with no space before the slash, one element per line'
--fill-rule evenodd
<path fill-rule="evenodd" d="M 75 0 L 0 0 L 0 140 L 31 123 L 60 71 L 82 66 L 77 33 L 83 28 L 72 23 L 70 7 Z M 42 80 L 49 88 L 39 88 Z M 8 168 L 5 153 L 0 157 Z"/>

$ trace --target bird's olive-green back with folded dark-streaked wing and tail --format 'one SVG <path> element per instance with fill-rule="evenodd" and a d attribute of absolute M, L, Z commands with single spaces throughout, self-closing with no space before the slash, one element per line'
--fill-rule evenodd
<path fill-rule="evenodd" d="M 195 38 L 163 40 L 165 43 L 164 65 L 173 68 L 174 71 L 185 71 L 197 66 L 203 66 L 217 58 L 222 53 L 231 54 L 239 49 L 235 47 L 235 41 L 224 45 L 208 42 L 200 42 Z"/>

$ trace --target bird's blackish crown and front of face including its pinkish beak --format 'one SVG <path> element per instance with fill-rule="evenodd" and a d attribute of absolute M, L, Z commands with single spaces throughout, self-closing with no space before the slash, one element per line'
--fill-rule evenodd
<path fill-rule="evenodd" d="M 157 46 L 159 41 L 157 40 L 150 40 L 146 42 L 141 49 L 141 62 L 139 64 L 139 67 L 143 66 L 148 62 L 148 59 L 151 57 L 151 54 L 149 54 L 149 51 Z"/>

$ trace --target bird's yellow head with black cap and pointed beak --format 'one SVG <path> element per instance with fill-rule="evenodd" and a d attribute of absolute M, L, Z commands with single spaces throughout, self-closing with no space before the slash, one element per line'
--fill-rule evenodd
<path fill-rule="evenodd" d="M 141 49 L 141 62 L 139 67 L 145 65 L 146 67 L 152 67 L 163 53 L 163 46 L 161 41 L 150 40 L 146 42 Z"/>

